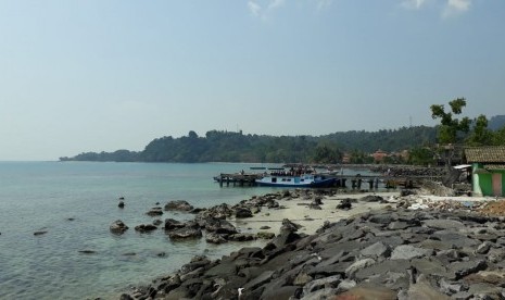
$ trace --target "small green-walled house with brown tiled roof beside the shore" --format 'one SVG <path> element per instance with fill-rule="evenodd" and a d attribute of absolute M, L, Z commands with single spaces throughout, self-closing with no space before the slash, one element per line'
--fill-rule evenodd
<path fill-rule="evenodd" d="M 475 196 L 505 196 L 505 146 L 466 147 Z"/>

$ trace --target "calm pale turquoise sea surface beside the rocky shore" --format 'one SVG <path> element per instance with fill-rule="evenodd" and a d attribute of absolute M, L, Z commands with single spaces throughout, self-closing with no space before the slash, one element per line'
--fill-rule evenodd
<path fill-rule="evenodd" d="M 223 187 L 212 177 L 257 164 L 0 162 L 0 299 L 118 299 L 130 285 L 179 268 L 197 254 L 218 259 L 253 243 L 172 242 L 152 223 L 156 202 L 235 204 L 273 189 Z M 126 207 L 118 209 L 118 198 Z M 160 218 L 193 218 L 165 212 Z M 122 220 L 124 235 L 109 232 Z M 35 232 L 47 232 L 34 236 Z M 96 253 L 84 254 L 90 250 Z M 160 253 L 166 253 L 164 257 Z M 135 253 L 135 254 L 134 254 Z"/>

